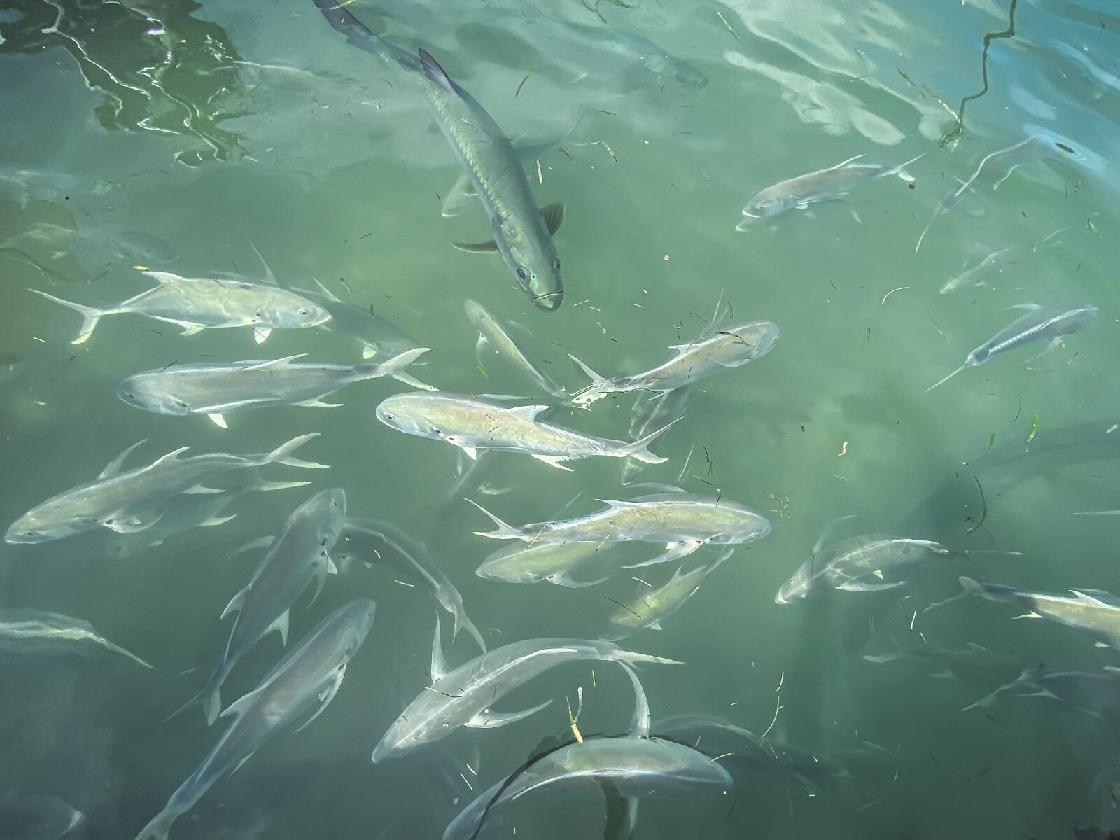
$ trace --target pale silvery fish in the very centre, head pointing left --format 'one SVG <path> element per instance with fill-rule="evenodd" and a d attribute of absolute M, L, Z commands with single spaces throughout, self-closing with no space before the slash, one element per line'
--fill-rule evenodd
<path fill-rule="evenodd" d="M 627 442 L 582 435 L 562 426 L 536 419 L 550 405 L 506 408 L 463 394 L 396 394 L 377 405 L 377 419 L 405 435 L 444 440 L 470 458 L 479 451 L 495 450 L 529 455 L 551 467 L 564 469 L 568 460 L 581 458 L 634 457 L 646 464 L 663 464 L 668 458 L 646 447 L 665 429 L 657 429 L 641 440 Z M 666 427 L 668 428 L 668 427 Z"/>

